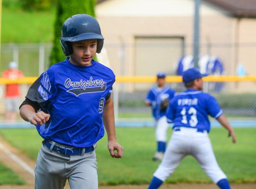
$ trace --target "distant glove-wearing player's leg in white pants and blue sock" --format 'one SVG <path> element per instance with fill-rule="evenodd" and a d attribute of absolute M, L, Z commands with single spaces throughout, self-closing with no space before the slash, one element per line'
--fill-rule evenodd
<path fill-rule="evenodd" d="M 155 153 L 155 156 L 153 160 L 161 161 L 163 158 L 163 153 L 165 152 L 166 148 L 166 140 L 167 140 L 167 134 L 166 131 L 168 129 L 168 123 L 166 120 L 166 116 L 162 116 L 156 124 L 155 128 L 155 139 L 157 141 L 157 152 Z"/>

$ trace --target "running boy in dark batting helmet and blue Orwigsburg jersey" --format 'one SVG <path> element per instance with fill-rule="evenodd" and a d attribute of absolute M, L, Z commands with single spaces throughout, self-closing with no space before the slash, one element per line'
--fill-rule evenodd
<path fill-rule="evenodd" d="M 116 141 L 113 100 L 115 75 L 93 60 L 103 40 L 96 19 L 68 18 L 61 30 L 63 62 L 51 66 L 31 85 L 20 115 L 44 138 L 35 166 L 36 189 L 98 188 L 96 143 L 108 135 L 108 150 L 121 158 Z M 115 150 L 117 152 L 115 152 Z"/>

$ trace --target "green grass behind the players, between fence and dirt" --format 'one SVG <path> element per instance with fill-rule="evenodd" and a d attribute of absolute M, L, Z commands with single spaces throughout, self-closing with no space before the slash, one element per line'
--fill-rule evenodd
<path fill-rule="evenodd" d="M 256 183 L 256 128 L 235 128 L 237 144 L 231 143 L 227 131 L 213 128 L 209 136 L 221 169 L 231 183 Z M 146 184 L 159 162 L 151 160 L 155 152 L 154 128 L 116 128 L 124 147 L 122 159 L 114 159 L 107 150 L 104 136 L 96 148 L 99 184 Z M 9 143 L 36 160 L 41 137 L 36 129 L 1 129 Z M 171 129 L 168 130 L 170 138 Z M 211 183 L 199 164 L 187 156 L 166 183 Z"/>

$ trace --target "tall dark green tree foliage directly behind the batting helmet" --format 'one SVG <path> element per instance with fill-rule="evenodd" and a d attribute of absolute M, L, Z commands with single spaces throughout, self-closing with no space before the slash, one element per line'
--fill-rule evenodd
<path fill-rule="evenodd" d="M 61 27 L 65 20 L 75 14 L 89 14 L 95 17 L 95 3 L 96 0 L 58 0 L 50 65 L 61 62 L 66 58 L 60 45 Z"/>

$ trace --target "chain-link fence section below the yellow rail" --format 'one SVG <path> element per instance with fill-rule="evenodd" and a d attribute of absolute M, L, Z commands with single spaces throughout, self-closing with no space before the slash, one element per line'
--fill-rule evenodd
<path fill-rule="evenodd" d="M 136 85 L 144 85 L 143 88 L 147 90 L 131 90 L 124 89 L 134 88 Z M 113 86 L 113 100 L 115 108 L 115 119 L 123 126 L 129 125 L 141 125 L 152 126 L 153 119 L 151 116 L 151 108 L 146 107 L 144 99 L 147 95 L 149 88 L 154 86 L 154 82 L 116 82 Z M 222 87 L 221 91 L 216 92 L 215 87 Z M 246 89 L 242 92 L 230 92 L 231 85 L 243 85 Z M 179 82 L 168 82 L 166 86 L 173 88 L 177 93 L 185 90 L 184 85 Z M 246 87 L 248 86 L 248 87 Z M 240 124 L 247 124 L 248 121 L 251 124 L 256 123 L 256 93 L 253 91 L 252 86 L 256 87 L 256 82 L 204 82 L 204 91 L 209 92 L 219 102 L 226 117 L 229 120 L 240 122 Z M 1 84 L 2 98 L 0 98 L 0 120 L 5 121 L 5 85 Z M 24 100 L 30 84 L 20 84 L 21 95 L 19 98 L 19 104 Z M 17 110 L 18 111 L 18 110 Z M 17 117 L 17 120 L 21 118 Z"/>

